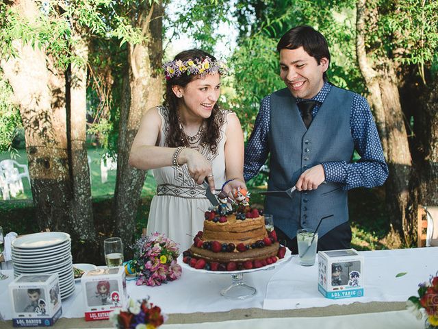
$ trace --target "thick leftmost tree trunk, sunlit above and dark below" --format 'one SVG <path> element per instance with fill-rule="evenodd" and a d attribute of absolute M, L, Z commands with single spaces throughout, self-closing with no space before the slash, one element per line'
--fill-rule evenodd
<path fill-rule="evenodd" d="M 17 1 L 14 6 L 30 22 L 35 21 L 38 8 L 34 1 Z M 52 112 L 51 73 L 44 53 L 36 47 L 14 40 L 17 58 L 2 60 L 14 97 L 20 107 L 25 129 L 31 190 L 40 229 L 63 231 L 70 220 L 70 176 L 65 138 L 65 115 Z M 62 103 L 64 90 L 57 100 Z"/>

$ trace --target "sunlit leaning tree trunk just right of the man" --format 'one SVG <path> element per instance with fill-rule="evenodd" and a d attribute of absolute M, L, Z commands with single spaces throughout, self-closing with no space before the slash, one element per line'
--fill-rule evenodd
<path fill-rule="evenodd" d="M 390 221 L 404 242 L 410 245 L 413 242 L 414 218 L 409 212 L 412 160 L 407 130 L 400 105 L 394 63 L 384 57 L 373 61 L 371 51 L 367 53 L 365 49 L 365 36 L 369 34 L 365 19 L 378 21 L 378 13 L 370 12 L 365 2 L 365 0 L 357 1 L 357 58 L 370 92 L 370 103 L 389 167 L 386 197 Z"/>

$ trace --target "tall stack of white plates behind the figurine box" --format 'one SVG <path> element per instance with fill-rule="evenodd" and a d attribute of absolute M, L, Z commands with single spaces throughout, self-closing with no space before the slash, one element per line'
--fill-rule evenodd
<path fill-rule="evenodd" d="M 70 235 L 41 232 L 12 241 L 14 276 L 58 273 L 62 299 L 75 291 Z"/>

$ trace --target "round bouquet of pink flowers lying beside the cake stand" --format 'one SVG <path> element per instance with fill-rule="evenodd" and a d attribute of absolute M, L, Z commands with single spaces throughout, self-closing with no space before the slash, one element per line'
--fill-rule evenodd
<path fill-rule="evenodd" d="M 130 267 L 137 273 L 137 285 L 159 286 L 181 276 L 177 244 L 164 234 L 154 233 L 137 242 Z"/>

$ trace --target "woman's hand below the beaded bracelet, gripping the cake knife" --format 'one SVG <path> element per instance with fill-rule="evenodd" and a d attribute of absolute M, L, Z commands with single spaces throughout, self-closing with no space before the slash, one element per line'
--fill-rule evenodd
<path fill-rule="evenodd" d="M 190 176 L 197 184 L 203 184 L 207 177 L 209 186 L 214 191 L 214 178 L 209 160 L 195 149 L 185 148 L 179 154 L 179 164 L 184 163 L 187 164 Z"/>

